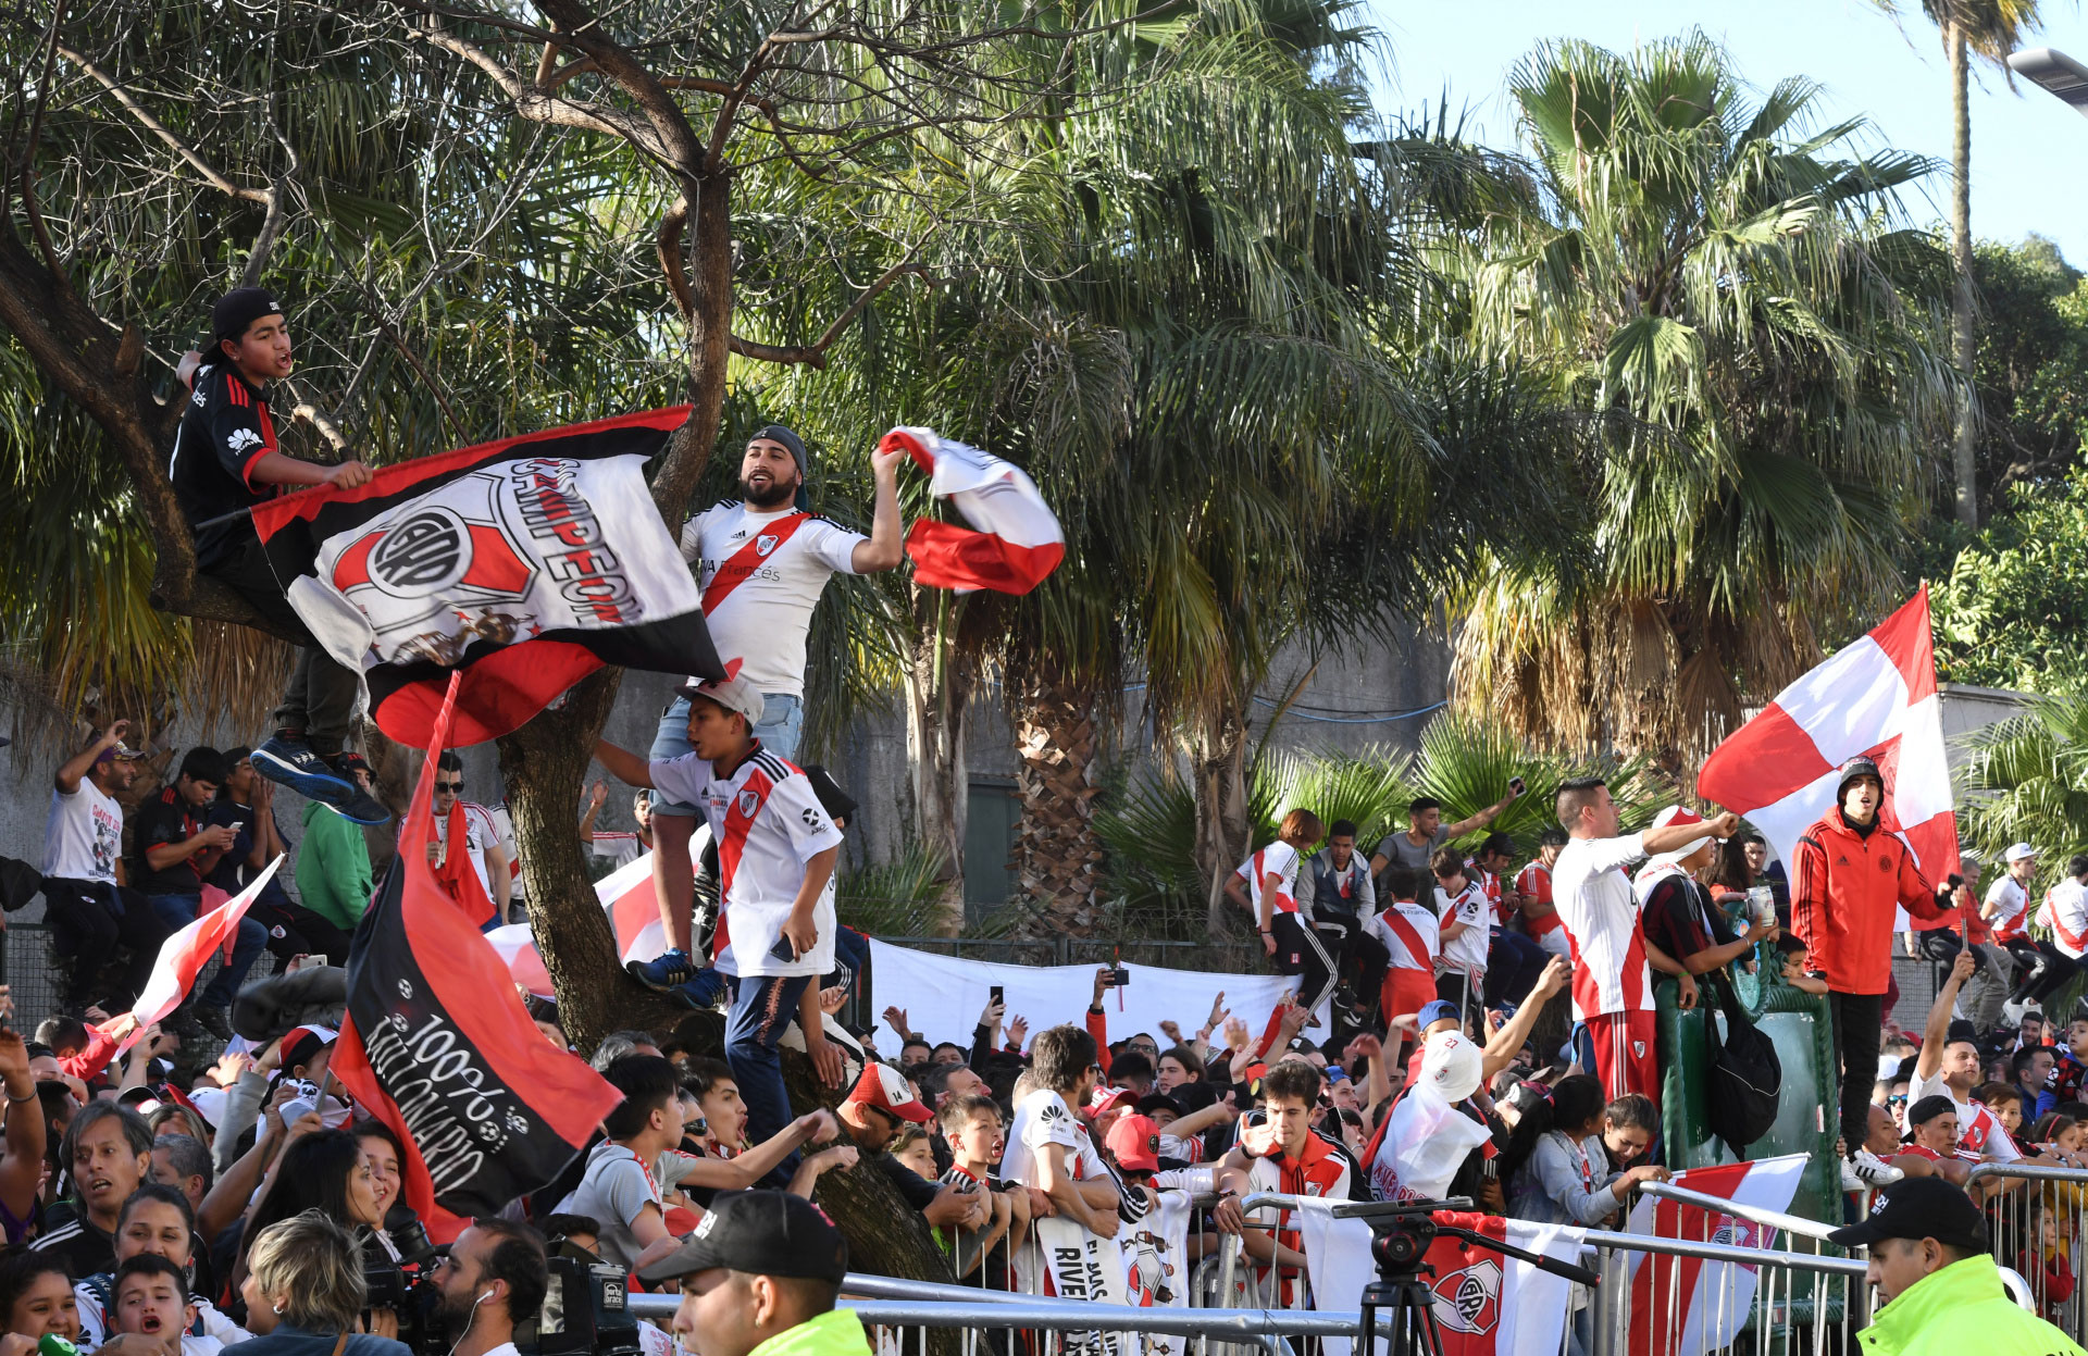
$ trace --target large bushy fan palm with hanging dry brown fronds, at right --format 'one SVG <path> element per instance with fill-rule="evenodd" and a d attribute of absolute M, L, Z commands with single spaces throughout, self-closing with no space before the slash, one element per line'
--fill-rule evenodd
<path fill-rule="evenodd" d="M 1589 422 L 1579 550 L 1457 600 L 1453 689 L 1533 742 L 1710 748 L 1896 591 L 1963 380 L 1948 255 L 1894 224 L 1927 163 L 1741 94 L 1704 36 L 1539 46 L 1510 92 L 1535 211 L 1476 232 L 1474 343 Z"/>

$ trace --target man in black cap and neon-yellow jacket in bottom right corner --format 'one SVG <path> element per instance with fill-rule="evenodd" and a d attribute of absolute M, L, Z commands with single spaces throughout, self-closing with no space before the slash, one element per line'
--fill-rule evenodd
<path fill-rule="evenodd" d="M 1856 1335 L 1867 1356 L 2084 1356 L 2009 1300 L 1986 1252 L 1986 1216 L 1940 1176 L 1885 1187 L 1871 1218 L 1827 1237 L 1871 1249 L 1869 1281 L 1881 1308 Z"/>

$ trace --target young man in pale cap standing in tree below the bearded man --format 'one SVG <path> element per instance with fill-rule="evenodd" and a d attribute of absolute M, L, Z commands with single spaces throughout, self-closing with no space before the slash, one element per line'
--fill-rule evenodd
<path fill-rule="evenodd" d="M 695 752 L 645 761 L 597 742 L 595 758 L 622 781 L 695 804 L 710 819 L 718 842 L 712 953 L 733 1003 L 725 1059 L 748 1103 L 748 1135 L 760 1143 L 791 1122 L 777 1041 L 798 1015 L 806 986 L 833 969 L 833 863 L 841 832 L 821 809 L 810 779 L 754 738 L 762 721 L 762 694 L 754 683 L 743 677 L 699 683 L 685 696 L 691 698 Z M 687 936 L 687 896 L 681 907 Z M 691 1005 L 708 1005 L 716 988 L 716 980 L 699 972 L 685 984 L 685 997 Z M 837 1082 L 839 1059 L 821 1022 L 800 1026 L 812 1063 Z"/>

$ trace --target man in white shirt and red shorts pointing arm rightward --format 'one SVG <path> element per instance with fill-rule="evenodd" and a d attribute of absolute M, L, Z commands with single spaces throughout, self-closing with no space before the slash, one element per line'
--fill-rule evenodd
<path fill-rule="evenodd" d="M 1737 815 L 1668 823 L 1618 836 L 1622 815 L 1601 777 L 1564 781 L 1558 794 L 1566 846 L 1551 867 L 1551 905 L 1572 946 L 1572 1007 L 1595 1047 L 1595 1076 L 1614 1099 L 1641 1093 L 1660 1101 L 1660 1059 L 1654 1053 L 1652 951 L 1639 928 L 1639 901 L 1624 867 L 1710 834 L 1731 838 Z M 1660 959 L 1666 959 L 1662 953 Z M 1662 969 L 1679 969 L 1670 963 Z M 1693 986 L 1691 986 L 1693 988 Z"/>

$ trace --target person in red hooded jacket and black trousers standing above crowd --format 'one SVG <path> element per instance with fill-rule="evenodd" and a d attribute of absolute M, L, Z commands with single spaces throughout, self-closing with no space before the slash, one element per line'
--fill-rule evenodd
<path fill-rule="evenodd" d="M 1906 840 L 1883 825 L 1885 777 L 1869 756 L 1842 765 L 1835 806 L 1798 840 L 1792 932 L 1806 946 L 1806 974 L 1827 982 L 1833 1041 L 1842 1055 L 1842 1145 L 1865 1185 L 1890 1180 L 1862 1147 L 1871 1128 L 1871 1084 L 1892 982 L 1892 921 L 1898 909 L 1938 919 L 1954 909 L 1952 875 L 1936 890 Z"/>

